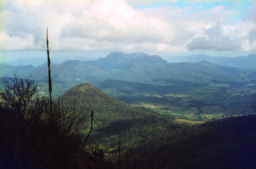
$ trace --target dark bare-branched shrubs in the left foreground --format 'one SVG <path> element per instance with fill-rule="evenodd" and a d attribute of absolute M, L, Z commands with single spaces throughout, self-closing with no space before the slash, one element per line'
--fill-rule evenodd
<path fill-rule="evenodd" d="M 0 168 L 85 168 L 90 154 L 81 155 L 83 135 L 79 129 L 89 117 L 76 102 L 39 95 L 31 76 L 1 79 Z"/>

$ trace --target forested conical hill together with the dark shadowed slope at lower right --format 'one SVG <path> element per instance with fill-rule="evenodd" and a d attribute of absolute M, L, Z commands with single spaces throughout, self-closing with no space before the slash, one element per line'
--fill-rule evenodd
<path fill-rule="evenodd" d="M 250 161 L 255 157 L 255 146 L 252 146 L 255 140 L 255 115 L 225 117 L 207 123 L 189 121 L 193 124 L 191 125 L 177 122 L 174 116 L 166 116 L 154 111 L 163 106 L 144 104 L 151 110 L 138 106 L 131 107 L 109 97 L 90 84 L 78 85 L 61 97 L 64 100 L 80 99 L 89 107 L 97 109 L 95 124 L 98 123 L 100 126 L 96 127 L 94 134 L 92 132 L 89 140 L 102 148 L 105 159 L 111 159 L 112 164 L 120 166 L 121 161 L 118 159 L 126 159 L 124 157 L 130 159 L 132 156 L 140 161 L 134 161 L 137 166 L 135 168 L 170 168 L 170 166 L 183 168 L 189 165 L 199 168 L 235 166 L 250 168 L 255 165 Z M 240 133 L 239 137 L 236 136 L 238 133 Z M 245 139 L 245 136 L 250 137 L 250 143 L 246 141 L 249 138 Z M 232 140 L 233 144 L 225 140 Z M 129 153 L 125 153 L 126 150 L 129 150 Z M 220 151 L 220 154 L 216 154 L 215 150 Z M 245 156 L 241 157 L 236 153 Z M 209 162 L 208 156 L 212 157 L 212 161 Z M 240 163 L 238 159 L 242 159 L 243 162 Z M 131 161 L 125 163 L 129 166 L 134 165 Z"/>

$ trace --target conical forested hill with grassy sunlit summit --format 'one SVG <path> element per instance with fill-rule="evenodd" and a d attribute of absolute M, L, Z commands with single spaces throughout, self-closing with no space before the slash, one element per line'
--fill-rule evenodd
<path fill-rule="evenodd" d="M 67 102 L 76 101 L 78 104 L 84 104 L 89 110 L 94 111 L 95 121 L 102 122 L 103 126 L 114 121 L 145 117 L 148 114 L 143 109 L 129 106 L 108 96 L 88 83 L 71 88 L 60 98 Z"/>

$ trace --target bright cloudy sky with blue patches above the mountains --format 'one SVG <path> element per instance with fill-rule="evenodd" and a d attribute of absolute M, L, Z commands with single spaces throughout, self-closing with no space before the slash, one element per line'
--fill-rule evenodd
<path fill-rule="evenodd" d="M 256 53 L 254 0 L 0 0 L 0 62 L 110 52 Z"/>

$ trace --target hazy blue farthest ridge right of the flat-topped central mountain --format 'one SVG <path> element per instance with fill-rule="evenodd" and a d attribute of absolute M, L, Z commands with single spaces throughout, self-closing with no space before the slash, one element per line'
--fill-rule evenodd
<path fill-rule="evenodd" d="M 169 62 L 189 62 L 197 63 L 206 60 L 221 66 L 238 67 L 238 68 L 252 68 L 256 69 L 256 54 L 249 54 L 248 56 L 239 57 L 213 57 L 205 54 L 189 55 L 189 56 L 173 56 L 169 57 Z"/>

